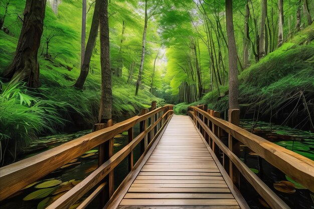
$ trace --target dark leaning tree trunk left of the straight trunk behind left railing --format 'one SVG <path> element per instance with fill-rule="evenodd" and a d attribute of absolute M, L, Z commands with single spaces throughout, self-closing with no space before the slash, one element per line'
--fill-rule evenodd
<path fill-rule="evenodd" d="M 93 49 L 97 40 L 98 26 L 99 26 L 99 5 L 100 5 L 100 0 L 96 0 L 92 25 L 90 27 L 89 37 L 88 37 L 88 41 L 87 41 L 87 45 L 86 45 L 86 49 L 84 53 L 84 60 L 81 67 L 80 76 L 78 77 L 77 81 L 74 84 L 74 87 L 78 89 L 83 89 L 85 80 L 88 75 L 90 59 L 92 57 Z"/>

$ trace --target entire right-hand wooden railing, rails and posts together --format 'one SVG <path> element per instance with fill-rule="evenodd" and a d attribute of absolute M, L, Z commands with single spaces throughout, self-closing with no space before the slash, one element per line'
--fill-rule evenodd
<path fill-rule="evenodd" d="M 314 161 L 240 128 L 239 124 L 236 124 L 239 121 L 240 110 L 229 110 L 229 122 L 220 119 L 220 113 L 208 110 L 206 105 L 191 106 L 188 114 L 218 158 L 222 151 L 223 167 L 235 186 L 239 186 L 241 173 L 272 208 L 289 208 L 240 160 L 240 143 L 243 143 L 293 180 L 314 192 Z M 226 145 L 221 140 L 222 135 L 228 137 Z"/>

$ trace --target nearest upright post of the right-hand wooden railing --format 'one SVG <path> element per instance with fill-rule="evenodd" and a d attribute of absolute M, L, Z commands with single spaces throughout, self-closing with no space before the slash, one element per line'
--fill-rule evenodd
<path fill-rule="evenodd" d="M 239 126 L 240 124 L 240 110 L 233 109 L 228 111 L 229 123 Z M 229 149 L 240 157 L 240 142 L 229 134 L 228 138 Z M 234 185 L 240 186 L 240 173 L 236 166 L 229 159 L 229 175 Z"/>

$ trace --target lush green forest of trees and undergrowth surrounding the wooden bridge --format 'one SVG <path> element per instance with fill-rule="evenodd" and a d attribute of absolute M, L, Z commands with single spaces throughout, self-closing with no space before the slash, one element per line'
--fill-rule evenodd
<path fill-rule="evenodd" d="M 314 0 L 0 0 L 0 166 L 152 101 L 240 109 L 314 160 L 313 21 Z"/>

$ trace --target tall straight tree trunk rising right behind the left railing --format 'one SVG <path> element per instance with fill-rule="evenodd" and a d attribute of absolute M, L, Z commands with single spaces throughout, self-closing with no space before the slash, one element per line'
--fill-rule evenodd
<path fill-rule="evenodd" d="M 108 0 L 100 1 L 100 65 L 101 65 L 101 98 L 98 122 L 103 123 L 111 119 L 112 111 L 112 84 L 109 57 L 109 22 Z"/>

